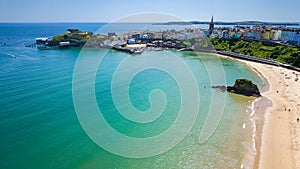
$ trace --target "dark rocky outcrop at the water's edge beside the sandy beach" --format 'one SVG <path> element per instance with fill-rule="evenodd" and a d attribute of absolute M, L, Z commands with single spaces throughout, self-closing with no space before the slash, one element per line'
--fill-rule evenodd
<path fill-rule="evenodd" d="M 247 79 L 237 79 L 234 86 L 227 86 L 227 91 L 245 96 L 260 96 L 258 87 Z"/>

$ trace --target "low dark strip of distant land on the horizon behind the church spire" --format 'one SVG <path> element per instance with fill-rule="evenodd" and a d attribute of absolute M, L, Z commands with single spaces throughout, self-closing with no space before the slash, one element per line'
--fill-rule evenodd
<path fill-rule="evenodd" d="M 153 25 L 207 25 L 206 21 L 188 21 L 188 22 L 165 22 L 153 23 Z M 261 21 L 240 21 L 240 22 L 214 22 L 215 25 L 270 25 L 270 26 L 299 26 L 299 23 L 293 22 L 261 22 Z"/>

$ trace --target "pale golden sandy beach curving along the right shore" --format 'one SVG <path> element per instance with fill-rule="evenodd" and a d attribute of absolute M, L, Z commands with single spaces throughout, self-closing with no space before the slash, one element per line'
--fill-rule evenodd
<path fill-rule="evenodd" d="M 222 56 L 224 57 L 224 56 Z M 227 57 L 227 56 L 225 56 Z M 239 60 L 263 76 L 269 89 L 262 97 L 271 105 L 255 107 L 263 109 L 263 117 L 256 115 L 257 157 L 254 168 L 294 169 L 300 168 L 300 72 L 281 67 Z M 261 125 L 261 126 L 260 126 Z"/>

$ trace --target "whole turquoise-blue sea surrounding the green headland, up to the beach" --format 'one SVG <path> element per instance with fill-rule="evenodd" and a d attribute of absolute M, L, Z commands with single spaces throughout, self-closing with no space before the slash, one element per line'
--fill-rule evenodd
<path fill-rule="evenodd" d="M 175 50 L 25 47 L 68 28 L 207 27 L 107 25 L 0 24 L 0 168 L 252 168 L 256 98 L 211 88 L 238 78 L 263 87 L 247 65 Z"/>

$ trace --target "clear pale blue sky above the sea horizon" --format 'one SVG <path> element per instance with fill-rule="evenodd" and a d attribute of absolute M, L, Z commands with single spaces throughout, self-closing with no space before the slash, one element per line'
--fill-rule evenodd
<path fill-rule="evenodd" d="M 300 0 L 0 0 L 0 22 L 165 22 L 163 13 L 185 21 L 300 22 Z M 124 19 L 127 18 L 127 19 Z M 129 19 L 128 19 L 129 18 Z"/>

